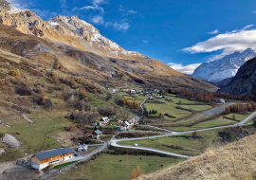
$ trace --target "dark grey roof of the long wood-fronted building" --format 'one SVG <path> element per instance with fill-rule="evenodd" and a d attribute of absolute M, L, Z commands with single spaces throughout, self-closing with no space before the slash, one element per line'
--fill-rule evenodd
<path fill-rule="evenodd" d="M 57 155 L 63 155 L 63 154 L 67 154 L 67 153 L 73 153 L 73 150 L 71 148 L 61 148 L 61 149 L 56 149 L 56 150 L 50 150 L 47 152 L 43 152 L 43 153 L 36 153 L 35 155 L 37 156 L 37 158 L 39 160 L 43 160 L 46 158 L 50 158 L 50 157 L 54 157 Z"/>

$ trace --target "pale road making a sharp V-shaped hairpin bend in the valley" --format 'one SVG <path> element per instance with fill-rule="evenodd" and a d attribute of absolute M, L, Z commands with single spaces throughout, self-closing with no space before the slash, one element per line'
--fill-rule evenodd
<path fill-rule="evenodd" d="M 247 123 L 247 121 L 255 115 L 256 115 L 256 112 L 251 114 L 249 117 L 245 118 L 243 121 L 241 121 L 239 123 L 236 123 L 236 124 L 233 124 L 233 125 L 206 128 L 206 129 L 201 129 L 201 130 L 196 130 L 196 131 L 197 132 L 203 132 L 203 131 L 209 131 L 209 130 L 216 130 L 216 129 L 230 128 L 230 127 L 237 127 L 237 126 L 240 126 L 240 125 L 245 125 L 245 123 Z M 194 131 L 173 132 L 173 133 L 165 134 L 165 135 L 155 135 L 155 136 L 148 136 L 148 137 L 128 138 L 128 139 L 114 139 L 113 138 L 110 143 L 111 143 L 111 146 L 115 146 L 115 147 L 119 147 L 119 148 L 130 148 L 130 149 L 137 149 L 137 150 L 145 150 L 145 151 L 151 151 L 151 152 L 156 152 L 156 153 L 170 154 L 170 155 L 177 156 L 177 157 L 191 158 L 191 156 L 181 155 L 181 154 L 177 154 L 177 153 L 168 153 L 168 152 L 158 151 L 158 150 L 155 150 L 155 149 L 152 149 L 152 148 L 119 145 L 118 142 L 128 141 L 128 140 L 142 140 L 142 139 L 158 138 L 158 137 L 171 136 L 171 135 L 184 135 L 184 134 L 191 134 L 193 132 Z"/>

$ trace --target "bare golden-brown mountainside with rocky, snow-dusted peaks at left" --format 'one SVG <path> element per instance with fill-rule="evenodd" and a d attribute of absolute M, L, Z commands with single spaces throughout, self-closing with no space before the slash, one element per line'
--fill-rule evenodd
<path fill-rule="evenodd" d="M 77 16 L 59 15 L 44 21 L 31 10 L 15 9 L 5 0 L 0 0 L 0 8 L 3 9 L 0 23 L 27 35 L 10 34 L 12 29 L 1 26 L 1 48 L 31 61 L 46 61 L 48 66 L 59 61 L 67 71 L 81 76 L 94 73 L 95 78 L 99 74 L 117 81 L 195 89 L 215 88 L 210 83 L 177 72 L 158 60 L 126 51 Z"/>

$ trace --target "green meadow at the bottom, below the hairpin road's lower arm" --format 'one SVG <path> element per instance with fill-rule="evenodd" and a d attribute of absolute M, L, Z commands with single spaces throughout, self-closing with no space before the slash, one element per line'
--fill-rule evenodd
<path fill-rule="evenodd" d="M 141 159 L 139 159 L 140 157 Z M 89 164 L 82 164 L 77 169 L 66 172 L 55 180 L 129 180 L 130 174 L 134 169 L 137 169 L 137 166 L 140 167 L 143 173 L 151 173 L 174 166 L 183 160 L 175 157 L 103 154 Z M 150 164 L 151 166 L 149 166 Z M 163 168 L 160 167 L 161 165 L 163 165 Z"/>

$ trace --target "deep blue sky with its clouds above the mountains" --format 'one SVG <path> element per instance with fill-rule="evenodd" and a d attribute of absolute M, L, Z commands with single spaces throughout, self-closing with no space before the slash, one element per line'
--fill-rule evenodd
<path fill-rule="evenodd" d="M 235 50 L 256 50 L 255 0 L 8 0 L 47 20 L 78 15 L 126 50 L 191 74 Z"/>

